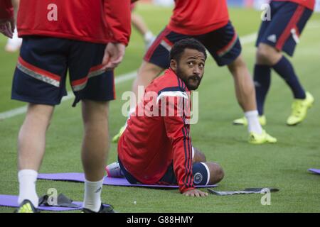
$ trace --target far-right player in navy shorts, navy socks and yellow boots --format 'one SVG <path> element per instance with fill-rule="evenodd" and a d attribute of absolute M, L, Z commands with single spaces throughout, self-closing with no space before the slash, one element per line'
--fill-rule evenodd
<path fill-rule="evenodd" d="M 254 71 L 257 109 L 260 122 L 266 124 L 265 99 L 271 84 L 271 70 L 279 74 L 292 90 L 294 101 L 292 113 L 287 118 L 288 126 L 295 126 L 306 118 L 307 110 L 314 103 L 314 97 L 304 90 L 291 62 L 282 54 L 294 55 L 299 37 L 314 11 L 315 0 L 272 0 L 271 20 L 262 21 L 257 38 L 257 56 Z M 234 121 L 247 124 L 246 118 Z"/>

